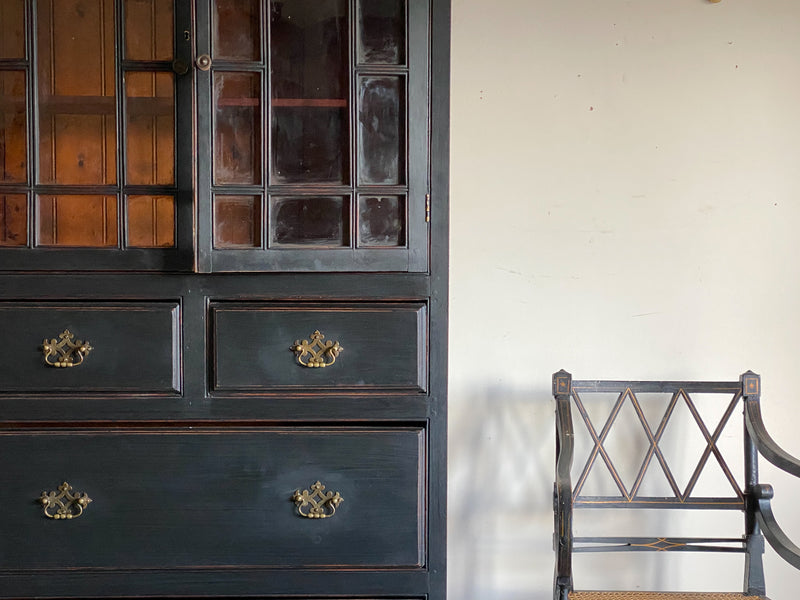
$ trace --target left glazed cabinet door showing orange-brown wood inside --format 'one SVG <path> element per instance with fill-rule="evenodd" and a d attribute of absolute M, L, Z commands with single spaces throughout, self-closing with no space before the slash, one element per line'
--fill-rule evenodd
<path fill-rule="evenodd" d="M 192 267 L 189 12 L 0 2 L 0 269 Z"/>

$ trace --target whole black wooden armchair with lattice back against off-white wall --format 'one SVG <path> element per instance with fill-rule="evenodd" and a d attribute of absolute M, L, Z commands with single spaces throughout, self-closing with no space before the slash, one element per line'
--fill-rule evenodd
<path fill-rule="evenodd" d="M 759 483 L 758 455 L 798 477 L 800 461 L 784 452 L 767 433 L 761 419 L 760 389 L 760 377 L 750 371 L 734 382 L 578 381 L 563 370 L 553 375 L 553 395 L 556 399 L 554 600 L 767 600 L 762 566 L 764 538 L 781 557 L 800 569 L 800 548 L 788 539 L 773 517 L 770 506 L 772 487 Z M 593 400 L 599 400 L 600 397 L 606 399 L 611 407 L 610 413 L 604 411 L 602 416 L 591 410 Z M 645 397 L 648 402 L 656 398 L 663 406 L 653 410 L 651 404 L 646 411 Z M 717 415 L 721 412 L 722 416 L 718 423 L 707 424 L 707 419 L 701 416 L 701 402 L 712 400 L 721 401 L 722 409 Z M 739 428 L 726 429 L 740 403 L 744 408 L 742 434 Z M 576 429 L 573 428 L 573 409 L 577 412 L 577 427 L 589 436 L 588 458 L 585 464 L 578 463 L 576 466 L 579 468 L 575 471 Z M 610 436 L 616 436 L 614 439 L 619 440 L 620 435 L 627 435 L 626 432 L 616 431 L 618 427 L 615 427 L 621 425 L 618 417 L 623 411 L 627 415 L 625 425 L 638 429 L 633 433 L 640 439 L 637 448 L 640 452 L 628 452 L 625 457 L 630 459 L 636 455 L 634 468 L 629 473 L 630 480 L 625 480 L 620 474 L 615 462 L 618 457 L 607 449 Z M 699 428 L 701 434 L 698 438 L 701 440 L 699 462 L 693 471 L 690 469 L 691 475 L 685 486 L 683 482 L 679 485 L 668 460 L 670 457 L 662 450 L 665 431 L 675 431 L 676 414 L 682 417 L 691 415 L 682 419 L 688 421 L 683 426 L 691 427 L 693 433 Z M 732 432 L 734 436 L 731 436 Z M 742 454 L 726 456 L 721 449 L 721 441 L 724 439 L 727 443 L 731 437 L 736 438 L 735 441 L 744 450 L 744 473 L 739 479 L 731 471 L 728 462 L 734 458 L 742 462 Z M 705 449 L 702 448 L 703 443 Z M 641 454 L 640 458 L 638 454 Z M 583 460 L 583 456 L 577 458 Z M 693 464 L 692 460 L 690 465 Z M 720 476 L 722 489 L 715 488 L 717 493 L 713 495 L 709 495 L 706 489 L 700 490 L 697 485 L 709 465 L 714 465 L 719 472 L 716 469 L 718 465 L 724 474 Z M 587 480 L 596 470 L 603 471 L 603 476 L 609 482 L 606 489 L 613 488 L 611 493 L 590 495 L 592 492 L 586 489 Z M 573 474 L 577 475 L 574 480 Z M 666 490 L 666 493 L 653 494 L 648 491 L 648 486 L 643 485 L 646 480 L 652 482 L 653 477 L 661 480 L 659 490 Z M 744 523 L 743 528 L 736 532 L 741 534 L 738 537 L 574 537 L 573 511 L 578 508 L 736 510 L 744 514 Z M 577 552 L 738 552 L 744 554 L 744 587 L 742 592 L 734 593 L 575 591 L 572 555 Z"/>

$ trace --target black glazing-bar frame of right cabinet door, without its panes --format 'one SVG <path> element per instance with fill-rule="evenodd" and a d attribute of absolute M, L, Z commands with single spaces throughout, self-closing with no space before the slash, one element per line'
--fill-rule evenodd
<path fill-rule="evenodd" d="M 197 266 L 200 272 L 270 272 L 270 271 L 329 271 L 329 272 L 427 272 L 429 270 L 429 203 L 430 203 L 430 22 L 429 0 L 407 0 L 406 45 L 407 59 L 402 68 L 357 65 L 355 19 L 361 0 L 347 0 L 350 61 L 349 81 L 349 172 L 344 185 L 273 184 L 269 179 L 270 157 L 270 87 L 268 81 L 261 82 L 261 182 L 248 186 L 215 186 L 212 181 L 213 155 L 213 76 L 215 66 L 196 73 L 197 79 Z M 195 53 L 197 56 L 211 54 L 211 18 L 213 0 L 197 2 L 197 32 Z M 265 0 L 263 6 L 269 6 Z M 262 10 L 266 12 L 266 10 Z M 267 20 L 262 17 L 262 73 L 269 75 Z M 201 27 L 200 24 L 208 24 Z M 230 61 L 218 63 L 219 71 L 235 70 Z M 246 71 L 246 68 L 243 68 Z M 360 75 L 399 75 L 405 82 L 405 106 L 402 115 L 405 121 L 403 134 L 406 137 L 407 161 L 403 185 L 368 186 L 359 185 L 357 163 L 358 78 Z M 253 236 L 254 247 L 214 247 L 214 194 L 252 196 L 260 212 L 260 232 Z M 406 243 L 397 247 L 358 247 L 358 202 L 360 195 L 402 196 L 405 209 Z M 349 206 L 348 241 L 341 247 L 306 247 L 302 245 L 271 247 L 269 243 L 269 203 L 271 197 L 315 197 L 337 196 L 345 198 Z M 258 239 L 255 239 L 258 238 Z"/>

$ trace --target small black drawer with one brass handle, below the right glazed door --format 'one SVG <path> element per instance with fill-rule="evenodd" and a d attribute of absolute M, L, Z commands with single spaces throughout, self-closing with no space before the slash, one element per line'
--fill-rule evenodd
<path fill-rule="evenodd" d="M 216 392 L 427 389 L 423 303 L 211 305 Z"/>

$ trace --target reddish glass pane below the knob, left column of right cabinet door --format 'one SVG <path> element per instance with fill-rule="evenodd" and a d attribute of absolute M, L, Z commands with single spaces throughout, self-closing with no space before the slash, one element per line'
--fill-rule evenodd
<path fill-rule="evenodd" d="M 261 75 L 214 73 L 214 183 L 261 182 Z"/>

